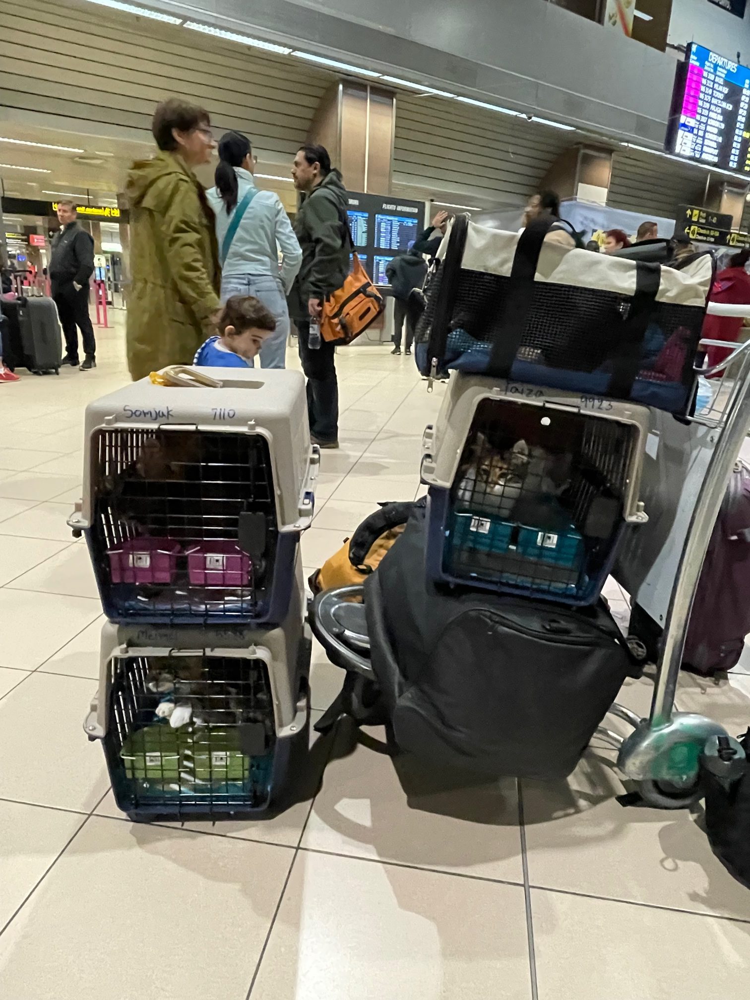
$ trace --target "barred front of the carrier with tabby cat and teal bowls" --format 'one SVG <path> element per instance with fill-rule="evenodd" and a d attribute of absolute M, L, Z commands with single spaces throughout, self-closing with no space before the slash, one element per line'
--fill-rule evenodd
<path fill-rule="evenodd" d="M 479 402 L 450 494 L 440 576 L 588 603 L 625 525 L 638 428 L 575 409 Z"/>

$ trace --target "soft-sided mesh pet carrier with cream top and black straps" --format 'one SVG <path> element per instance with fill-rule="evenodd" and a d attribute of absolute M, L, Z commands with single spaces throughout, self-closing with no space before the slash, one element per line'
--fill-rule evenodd
<path fill-rule="evenodd" d="M 676 270 L 593 254 L 545 242 L 553 223 L 519 236 L 456 218 L 417 326 L 422 374 L 453 368 L 684 413 L 711 255 Z"/>

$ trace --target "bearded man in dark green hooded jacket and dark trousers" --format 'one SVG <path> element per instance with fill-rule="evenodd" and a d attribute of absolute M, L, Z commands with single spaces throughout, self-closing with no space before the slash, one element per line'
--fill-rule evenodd
<path fill-rule="evenodd" d="M 323 146 L 300 147 L 292 178 L 301 193 L 294 232 L 302 248 L 302 266 L 289 295 L 289 315 L 297 327 L 307 377 L 310 435 L 322 448 L 338 448 L 336 349 L 322 339 L 317 347 L 315 340 L 310 344 L 310 322 L 320 322 L 326 296 L 341 288 L 349 271 L 346 189 Z"/>

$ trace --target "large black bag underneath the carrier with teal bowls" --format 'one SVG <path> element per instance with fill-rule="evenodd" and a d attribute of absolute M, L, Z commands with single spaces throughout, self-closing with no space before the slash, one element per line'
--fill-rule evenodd
<path fill-rule="evenodd" d="M 632 670 L 606 606 L 441 591 L 425 579 L 425 541 L 418 507 L 365 584 L 395 742 L 446 766 L 567 776 Z"/>

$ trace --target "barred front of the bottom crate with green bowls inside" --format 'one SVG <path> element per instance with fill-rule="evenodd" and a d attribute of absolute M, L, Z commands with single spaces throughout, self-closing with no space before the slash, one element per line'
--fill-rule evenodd
<path fill-rule="evenodd" d="M 244 653 L 111 659 L 104 750 L 120 809 L 141 818 L 268 803 L 276 740 L 268 664 Z"/>

